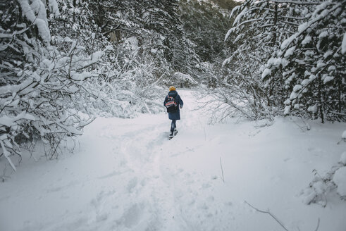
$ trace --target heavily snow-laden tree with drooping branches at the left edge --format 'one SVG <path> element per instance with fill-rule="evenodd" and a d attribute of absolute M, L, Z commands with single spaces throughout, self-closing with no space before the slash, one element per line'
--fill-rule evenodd
<path fill-rule="evenodd" d="M 97 75 L 88 68 L 103 52 L 85 54 L 76 42 L 68 51 L 51 46 L 47 11 L 58 15 L 55 0 L 1 1 L 0 144 L 1 156 L 20 157 L 20 144 L 42 140 L 56 157 L 66 136 L 82 134 L 92 118 L 81 116 L 83 82 Z"/>

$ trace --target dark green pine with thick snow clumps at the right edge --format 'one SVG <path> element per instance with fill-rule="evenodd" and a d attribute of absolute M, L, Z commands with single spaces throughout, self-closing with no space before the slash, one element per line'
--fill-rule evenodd
<path fill-rule="evenodd" d="M 283 72 L 285 114 L 346 120 L 346 1 L 323 1 L 295 33 L 280 44 L 265 73 Z"/>

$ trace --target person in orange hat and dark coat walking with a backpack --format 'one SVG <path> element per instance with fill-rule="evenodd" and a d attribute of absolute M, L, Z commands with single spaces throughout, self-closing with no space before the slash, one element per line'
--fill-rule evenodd
<path fill-rule="evenodd" d="M 183 105 L 184 102 L 180 98 L 175 87 L 169 87 L 168 95 L 166 96 L 165 101 L 163 101 L 163 106 L 166 106 L 168 111 L 168 118 L 172 120 L 169 139 L 172 139 L 178 133 L 176 122 L 177 120 L 180 120 L 180 109 L 183 108 Z"/>

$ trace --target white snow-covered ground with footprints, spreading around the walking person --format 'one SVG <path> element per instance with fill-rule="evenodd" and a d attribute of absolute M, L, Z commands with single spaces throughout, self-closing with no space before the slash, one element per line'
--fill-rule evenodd
<path fill-rule="evenodd" d="M 178 93 L 185 106 L 170 141 L 166 113 L 97 118 L 74 154 L 24 159 L 0 183 L 0 230 L 283 230 L 245 201 L 288 230 L 315 230 L 318 219 L 319 230 L 345 230 L 346 201 L 335 190 L 326 208 L 300 195 L 312 170 L 323 175 L 340 160 L 345 123 L 208 125 L 193 92 Z"/>

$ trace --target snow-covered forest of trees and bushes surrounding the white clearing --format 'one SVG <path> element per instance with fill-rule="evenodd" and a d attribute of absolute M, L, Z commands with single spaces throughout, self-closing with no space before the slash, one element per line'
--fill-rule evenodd
<path fill-rule="evenodd" d="M 11 0 L 0 13 L 9 163 L 37 140 L 54 158 L 96 115 L 157 113 L 169 85 L 204 86 L 216 121 L 345 122 L 345 1 Z"/>

